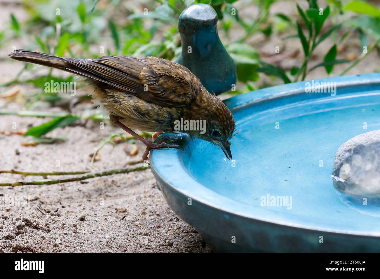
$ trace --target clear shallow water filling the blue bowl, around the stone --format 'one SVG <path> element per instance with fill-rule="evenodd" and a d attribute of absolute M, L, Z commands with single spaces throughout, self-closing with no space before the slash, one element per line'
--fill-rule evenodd
<path fill-rule="evenodd" d="M 231 140 L 234 161 L 197 140 L 184 156 L 185 166 L 207 188 L 249 205 L 264 219 L 380 232 L 380 207 L 349 206 L 331 179 L 340 145 L 380 129 L 379 95 L 352 92 L 246 107 L 234 113 L 239 132 Z"/>

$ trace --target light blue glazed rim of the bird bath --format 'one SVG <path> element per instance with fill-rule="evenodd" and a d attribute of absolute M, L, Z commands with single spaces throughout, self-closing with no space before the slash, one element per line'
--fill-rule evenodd
<path fill-rule="evenodd" d="M 244 107 L 252 106 L 259 102 L 269 101 L 275 98 L 286 98 L 288 96 L 305 93 L 306 82 L 311 80 L 294 82 L 284 85 L 277 85 L 256 91 L 251 91 L 224 100 L 225 104 L 232 112 Z M 315 82 L 336 82 L 337 88 L 358 87 L 363 85 L 380 84 L 380 73 L 361 74 L 352 76 L 330 77 L 317 79 Z M 184 200 L 191 198 L 197 203 L 201 203 L 214 210 L 221 211 L 227 215 L 236 215 L 255 221 L 266 222 L 274 225 L 292 227 L 302 230 L 312 230 L 326 233 L 337 233 L 345 235 L 380 237 L 380 232 L 370 231 L 350 231 L 329 229 L 315 225 L 303 225 L 296 222 L 279 221 L 271 218 L 264 218 L 262 214 L 255 214 L 252 208 L 236 200 L 218 194 L 206 186 L 198 183 L 186 170 L 182 159 L 181 150 L 154 150 L 150 155 L 150 165 L 152 173 L 161 187 L 168 188 L 169 191 L 176 192 Z M 184 218 L 185 219 L 185 218 Z M 186 221 L 186 220 L 185 220 Z"/>

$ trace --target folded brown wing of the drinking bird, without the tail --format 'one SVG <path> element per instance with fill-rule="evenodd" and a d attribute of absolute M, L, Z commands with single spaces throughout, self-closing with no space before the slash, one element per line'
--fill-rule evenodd
<path fill-rule="evenodd" d="M 64 58 L 68 70 L 135 95 L 160 106 L 186 106 L 201 82 L 187 68 L 156 57 L 103 56 L 95 59 Z"/>

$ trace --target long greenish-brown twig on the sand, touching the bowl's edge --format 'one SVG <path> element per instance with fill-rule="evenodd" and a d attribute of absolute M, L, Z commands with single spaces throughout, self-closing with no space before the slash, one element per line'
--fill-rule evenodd
<path fill-rule="evenodd" d="M 114 175 L 114 174 L 119 174 L 119 173 L 137 172 L 137 171 L 146 170 L 149 168 L 150 168 L 150 166 L 140 166 L 140 167 L 135 167 L 133 169 L 106 170 L 104 172 L 97 172 L 97 173 L 92 173 L 92 174 L 88 174 L 88 175 L 83 175 L 81 177 L 71 177 L 71 178 L 65 178 L 65 179 L 19 181 L 19 182 L 14 182 L 14 183 L 0 183 L 0 187 L 5 187 L 5 186 L 16 187 L 16 186 L 22 186 L 22 185 L 51 185 L 51 184 L 58 184 L 58 183 L 65 183 L 65 182 L 81 181 L 81 180 L 86 180 L 89 178 L 102 177 L 102 176 Z"/>

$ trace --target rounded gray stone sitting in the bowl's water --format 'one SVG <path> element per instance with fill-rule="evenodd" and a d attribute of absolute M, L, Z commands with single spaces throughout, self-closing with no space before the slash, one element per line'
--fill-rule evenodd
<path fill-rule="evenodd" d="M 380 198 L 380 130 L 343 143 L 334 161 L 334 187 L 355 197 Z"/>

